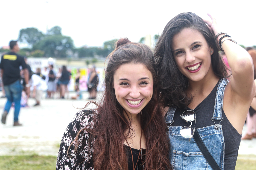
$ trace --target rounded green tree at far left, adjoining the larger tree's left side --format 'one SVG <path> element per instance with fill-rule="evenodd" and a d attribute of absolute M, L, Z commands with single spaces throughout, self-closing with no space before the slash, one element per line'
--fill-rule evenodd
<path fill-rule="evenodd" d="M 27 43 L 30 46 L 33 46 L 36 43 L 39 43 L 40 40 L 44 38 L 44 34 L 39 31 L 37 28 L 25 28 L 19 31 L 19 41 Z"/>

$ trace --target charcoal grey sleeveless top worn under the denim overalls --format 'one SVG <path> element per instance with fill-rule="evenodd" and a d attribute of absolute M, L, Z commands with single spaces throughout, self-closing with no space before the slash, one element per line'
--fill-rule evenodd
<path fill-rule="evenodd" d="M 196 113 L 196 129 L 203 128 L 206 126 L 214 125 L 211 118 L 213 117 L 213 111 L 215 106 L 215 98 L 216 98 L 216 92 L 219 82 L 216 84 L 216 86 L 213 88 L 213 90 L 210 92 L 210 94 L 203 100 L 196 108 L 194 109 L 194 112 Z M 173 117 L 174 123 L 172 123 L 172 126 L 189 126 L 191 123 L 184 121 L 180 115 L 186 110 L 191 110 L 190 108 L 180 109 L 177 108 Z M 222 125 L 222 131 L 225 141 L 225 167 L 227 167 L 229 170 L 234 170 L 236 166 L 237 161 L 237 155 L 238 155 L 238 149 L 241 142 L 241 137 L 237 130 L 231 125 L 231 123 L 228 121 L 228 118 L 226 117 L 223 109 L 222 109 L 222 117 L 224 118 L 221 121 Z M 166 118 L 166 115 L 165 115 Z M 216 124 L 219 123 L 218 120 L 215 120 Z"/>

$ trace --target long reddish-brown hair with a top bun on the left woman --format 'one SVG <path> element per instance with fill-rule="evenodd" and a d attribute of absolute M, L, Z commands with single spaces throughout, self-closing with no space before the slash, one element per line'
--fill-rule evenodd
<path fill-rule="evenodd" d="M 145 170 L 171 169 L 169 163 L 169 139 L 166 123 L 159 101 L 158 78 L 152 50 L 140 43 L 121 38 L 116 49 L 108 56 L 105 70 L 105 91 L 100 103 L 94 110 L 93 129 L 81 129 L 73 141 L 75 152 L 79 146 L 79 135 L 84 130 L 90 133 L 89 143 L 93 143 L 93 166 L 95 170 L 128 170 L 128 151 L 124 140 L 134 133 L 131 120 L 125 118 L 126 112 L 118 103 L 113 89 L 113 76 L 116 70 L 127 63 L 144 64 L 153 75 L 152 99 L 142 110 L 141 127 L 146 137 Z M 128 133 L 126 133 L 128 131 Z M 128 134 L 128 135 L 125 135 Z M 95 140 L 94 140 L 95 139 Z"/>

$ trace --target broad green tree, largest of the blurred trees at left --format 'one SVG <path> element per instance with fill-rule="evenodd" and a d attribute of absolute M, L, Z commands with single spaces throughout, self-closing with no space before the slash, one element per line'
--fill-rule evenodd
<path fill-rule="evenodd" d="M 66 52 L 73 50 L 73 40 L 63 35 L 47 35 L 43 40 L 33 45 L 33 50 L 42 50 L 46 57 L 66 58 Z"/>

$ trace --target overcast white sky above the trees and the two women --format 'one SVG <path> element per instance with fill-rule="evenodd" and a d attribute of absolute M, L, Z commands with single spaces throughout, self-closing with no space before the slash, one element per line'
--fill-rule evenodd
<path fill-rule="evenodd" d="M 256 45 L 256 1 L 65 1 L 1 0 L 0 47 L 17 39 L 19 30 L 36 27 L 43 33 L 60 26 L 76 47 L 102 46 L 104 41 L 127 37 L 137 42 L 147 34 L 161 34 L 169 20 L 182 12 L 202 18 L 211 13 L 226 32 L 245 46 Z M 209 18 L 210 19 L 210 18 Z"/>

